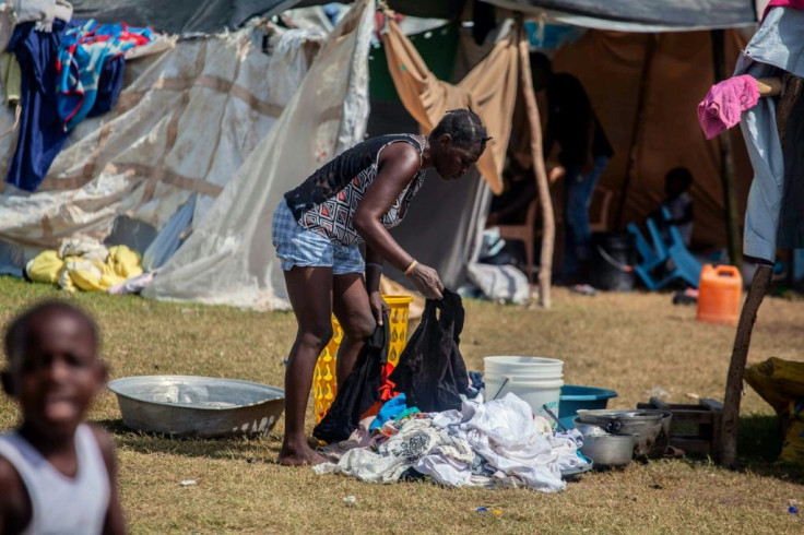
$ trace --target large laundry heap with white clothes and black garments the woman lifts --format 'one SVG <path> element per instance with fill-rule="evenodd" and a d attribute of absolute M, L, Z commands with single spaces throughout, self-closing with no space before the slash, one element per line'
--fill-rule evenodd
<path fill-rule="evenodd" d="M 590 466 L 577 431 L 554 433 L 512 393 L 484 403 L 459 349 L 463 319 L 458 294 L 428 299 L 395 367 L 387 358 L 389 321 L 377 328 L 314 429 L 333 461 L 317 473 L 553 492 L 565 487 L 563 471 Z"/>

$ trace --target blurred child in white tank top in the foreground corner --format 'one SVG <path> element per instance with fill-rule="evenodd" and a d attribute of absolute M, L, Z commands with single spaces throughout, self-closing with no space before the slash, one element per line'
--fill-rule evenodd
<path fill-rule="evenodd" d="M 108 370 L 95 322 L 46 301 L 13 320 L 4 342 L 2 385 L 22 423 L 0 435 L 0 533 L 125 533 L 111 440 L 84 424 Z"/>

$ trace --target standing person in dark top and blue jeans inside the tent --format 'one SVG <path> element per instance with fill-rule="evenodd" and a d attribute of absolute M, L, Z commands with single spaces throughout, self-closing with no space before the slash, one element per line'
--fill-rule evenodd
<path fill-rule="evenodd" d="M 547 128 L 545 158 L 558 148 L 558 165 L 549 166 L 551 180 L 564 177 L 565 251 L 561 278 L 583 294 L 589 286 L 592 230 L 589 206 L 600 176 L 614 155 L 612 145 L 592 109 L 587 92 L 577 78 L 553 73 L 549 59 L 531 55 L 531 74 L 536 93 L 546 93 Z"/>

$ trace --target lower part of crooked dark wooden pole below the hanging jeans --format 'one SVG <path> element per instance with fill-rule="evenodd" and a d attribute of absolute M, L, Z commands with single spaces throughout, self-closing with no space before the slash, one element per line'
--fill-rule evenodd
<path fill-rule="evenodd" d="M 757 311 L 768 293 L 773 266 L 762 264 L 754 274 L 748 289 L 748 297 L 743 305 L 737 324 L 737 334 L 734 336 L 732 360 L 729 365 L 729 374 L 725 382 L 725 400 L 723 402 L 723 423 L 721 427 L 720 464 L 735 466 L 737 461 L 737 421 L 740 419 L 740 397 L 743 395 L 743 373 L 745 361 L 748 358 L 750 335 Z"/>

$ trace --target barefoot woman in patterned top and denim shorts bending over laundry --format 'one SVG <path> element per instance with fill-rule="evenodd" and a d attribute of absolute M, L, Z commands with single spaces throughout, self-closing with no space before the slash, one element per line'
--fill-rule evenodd
<path fill-rule="evenodd" d="M 332 312 L 344 331 L 336 365 L 338 383 L 343 384 L 366 340 L 382 324 L 383 261 L 403 271 L 426 298 L 442 297 L 436 270 L 417 262 L 388 229 L 407 213 L 425 169 L 456 180 L 481 157 L 488 140 L 476 114 L 448 111 L 429 136 L 389 134 L 364 141 L 285 193 L 273 216 L 273 245 L 298 331 L 285 372 L 282 464 L 324 461 L 307 442 L 305 413 L 316 360 L 332 337 Z"/>

